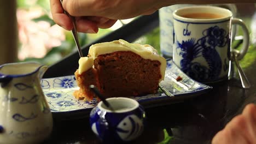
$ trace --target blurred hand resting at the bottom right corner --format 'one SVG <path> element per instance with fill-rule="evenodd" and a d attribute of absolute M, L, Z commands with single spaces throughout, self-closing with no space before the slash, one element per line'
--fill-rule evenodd
<path fill-rule="evenodd" d="M 256 105 L 248 104 L 241 115 L 232 118 L 213 137 L 212 144 L 215 143 L 256 143 Z"/>

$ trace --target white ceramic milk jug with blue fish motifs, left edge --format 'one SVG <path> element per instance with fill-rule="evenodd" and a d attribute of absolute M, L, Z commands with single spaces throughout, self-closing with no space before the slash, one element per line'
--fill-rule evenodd
<path fill-rule="evenodd" d="M 0 143 L 39 143 L 53 127 L 40 80 L 47 69 L 37 63 L 0 66 Z"/>

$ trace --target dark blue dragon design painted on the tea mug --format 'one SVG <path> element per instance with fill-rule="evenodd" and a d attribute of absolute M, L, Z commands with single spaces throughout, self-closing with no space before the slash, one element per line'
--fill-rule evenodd
<path fill-rule="evenodd" d="M 188 29 L 185 32 L 188 32 Z M 183 32 L 183 35 L 184 34 L 187 33 Z M 202 34 L 203 37 L 197 41 L 195 38 L 190 38 L 185 41 L 182 40 L 182 42 L 177 41 L 176 49 L 181 49 L 179 55 L 183 58 L 180 62 L 181 69 L 184 73 L 188 74 L 195 80 L 216 80 L 218 79 L 222 68 L 224 71 L 228 70 L 228 64 L 226 62 L 222 64 L 222 59 L 220 58 L 216 48 L 219 47 L 221 49 L 227 44 L 230 44 L 229 33 L 227 33 L 223 28 L 213 26 L 205 29 Z M 208 67 L 201 65 L 198 62 L 193 62 L 195 58 L 201 56 L 205 58 Z"/>

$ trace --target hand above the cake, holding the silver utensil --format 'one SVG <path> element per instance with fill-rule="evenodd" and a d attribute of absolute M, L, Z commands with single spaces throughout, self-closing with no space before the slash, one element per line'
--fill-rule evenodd
<path fill-rule="evenodd" d="M 63 0 L 63 8 L 72 16 L 78 32 L 97 33 L 98 28 L 109 28 L 117 20 L 154 13 L 163 5 L 155 0 Z M 54 21 L 61 27 L 71 30 L 71 19 L 63 13 L 60 0 L 50 0 Z"/>

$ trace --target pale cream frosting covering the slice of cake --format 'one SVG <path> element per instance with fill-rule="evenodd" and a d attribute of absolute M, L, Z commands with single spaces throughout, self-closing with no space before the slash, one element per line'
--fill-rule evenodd
<path fill-rule="evenodd" d="M 106 53 L 112 53 L 116 51 L 131 51 L 141 56 L 144 59 L 150 59 L 152 61 L 159 61 L 161 79 L 164 80 L 165 69 L 166 69 L 166 59 L 158 54 L 158 51 L 150 45 L 132 44 L 128 43 L 123 39 L 114 40 L 106 43 L 98 43 L 90 46 L 89 57 L 81 57 L 79 59 L 78 73 L 82 74 L 84 71 L 90 69 L 94 65 L 94 59 L 99 55 Z"/>

